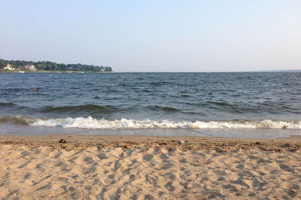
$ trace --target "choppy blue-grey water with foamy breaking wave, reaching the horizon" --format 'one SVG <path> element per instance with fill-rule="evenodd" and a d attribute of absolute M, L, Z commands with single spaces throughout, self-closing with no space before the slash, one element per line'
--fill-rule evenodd
<path fill-rule="evenodd" d="M 301 73 L 0 73 L 0 133 L 301 135 Z"/>

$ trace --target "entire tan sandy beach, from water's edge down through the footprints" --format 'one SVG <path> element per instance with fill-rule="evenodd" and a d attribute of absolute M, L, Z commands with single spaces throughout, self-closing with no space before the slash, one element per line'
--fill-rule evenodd
<path fill-rule="evenodd" d="M 176 139 L 0 135 L 0 198 L 301 199 L 301 136 Z"/>

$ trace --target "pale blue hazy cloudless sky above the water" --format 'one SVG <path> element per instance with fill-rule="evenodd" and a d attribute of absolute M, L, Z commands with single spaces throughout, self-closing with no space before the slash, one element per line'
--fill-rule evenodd
<path fill-rule="evenodd" d="M 300 0 L 4 1 L 0 58 L 117 72 L 301 69 Z"/>

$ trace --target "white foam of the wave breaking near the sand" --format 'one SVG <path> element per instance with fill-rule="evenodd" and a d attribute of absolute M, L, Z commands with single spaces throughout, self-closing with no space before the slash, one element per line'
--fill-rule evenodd
<path fill-rule="evenodd" d="M 143 128 L 185 128 L 185 129 L 213 129 L 213 128 L 271 128 L 271 129 L 301 129 L 301 121 L 154 121 L 154 120 L 132 120 L 122 119 L 107 121 L 105 119 L 97 120 L 91 116 L 87 118 L 57 118 L 57 119 L 37 119 L 31 123 L 33 126 L 61 126 L 64 128 L 84 128 L 84 129 L 143 129 Z"/>

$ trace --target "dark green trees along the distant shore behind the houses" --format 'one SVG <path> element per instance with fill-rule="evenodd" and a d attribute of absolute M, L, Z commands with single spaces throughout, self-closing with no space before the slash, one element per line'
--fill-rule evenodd
<path fill-rule="evenodd" d="M 0 59 L 0 69 L 10 64 L 15 69 L 23 69 L 26 65 L 34 65 L 37 70 L 48 70 L 48 71 L 92 71 L 92 72 L 111 72 L 112 67 L 106 66 L 94 66 L 87 64 L 58 64 L 50 61 L 20 61 L 20 60 L 3 60 Z"/>

